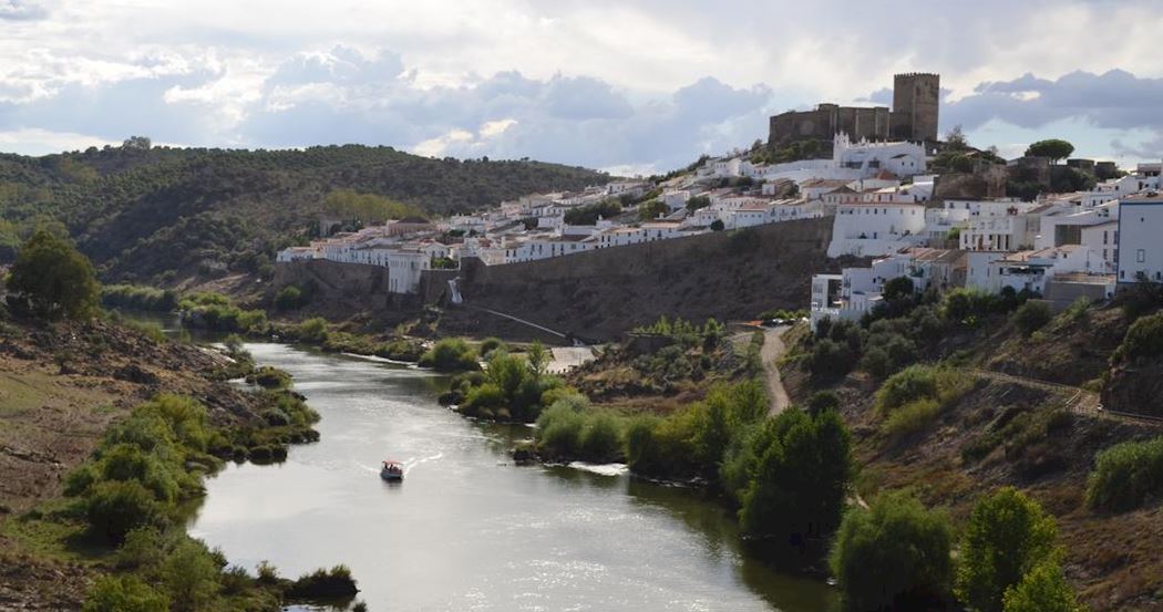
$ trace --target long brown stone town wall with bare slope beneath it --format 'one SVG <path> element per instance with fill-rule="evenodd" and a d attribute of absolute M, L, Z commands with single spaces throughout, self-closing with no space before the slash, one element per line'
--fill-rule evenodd
<path fill-rule="evenodd" d="M 487 308 L 573 336 L 606 340 L 659 315 L 751 319 L 806 308 L 826 258 L 833 217 L 761 225 L 586 253 L 462 265 L 466 310 Z M 473 316 L 472 325 L 484 317 Z"/>

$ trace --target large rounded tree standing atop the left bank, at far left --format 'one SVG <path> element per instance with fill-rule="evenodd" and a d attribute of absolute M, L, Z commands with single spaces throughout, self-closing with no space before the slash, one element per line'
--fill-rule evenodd
<path fill-rule="evenodd" d="M 67 239 L 40 229 L 12 266 L 8 288 L 34 315 L 56 321 L 97 314 L 101 289 L 93 264 Z"/>

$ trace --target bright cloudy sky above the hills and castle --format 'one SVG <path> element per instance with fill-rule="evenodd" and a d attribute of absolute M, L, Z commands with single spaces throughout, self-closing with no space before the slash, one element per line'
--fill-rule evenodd
<path fill-rule="evenodd" d="M 666 171 L 937 72 L 941 131 L 1163 158 L 1156 0 L 0 0 L 0 151 L 362 143 Z"/>

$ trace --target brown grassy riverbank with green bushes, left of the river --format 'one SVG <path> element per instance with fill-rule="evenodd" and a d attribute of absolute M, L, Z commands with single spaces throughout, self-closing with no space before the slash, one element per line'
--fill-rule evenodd
<path fill-rule="evenodd" d="M 0 322 L 0 609 L 79 610 L 102 589 L 148 584 L 165 585 L 158 597 L 180 599 L 176 575 L 151 574 L 163 573 L 171 559 L 202 563 L 202 586 L 235 607 L 277 607 L 288 583 L 226 571 L 226 561 L 186 537 L 178 518 L 199 497 L 201 477 L 223 461 L 278 460 L 287 444 L 317 439 L 311 427 L 317 416 L 291 391 L 227 382 L 228 373 L 244 373 L 242 357 L 134 324 Z M 195 420 L 174 422 L 176 413 Z M 129 423 L 150 433 L 109 433 L 128 432 Z M 197 440 L 179 437 L 186 442 L 155 454 L 162 440 L 190 434 L 191 423 L 200 423 Z M 148 446 L 108 446 L 115 438 Z M 102 456 L 145 471 L 95 461 L 102 447 Z M 123 480 L 128 474 L 147 480 L 135 485 Z M 124 497 L 141 491 L 149 497 Z M 129 525 L 123 521 L 134 516 L 130 507 L 158 530 L 147 538 L 155 555 L 149 563 L 127 561 L 117 546 L 126 533 L 109 532 L 113 524 L 101 518 Z"/>

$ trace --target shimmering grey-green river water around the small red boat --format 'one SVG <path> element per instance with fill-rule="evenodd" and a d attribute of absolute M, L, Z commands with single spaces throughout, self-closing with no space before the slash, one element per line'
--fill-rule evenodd
<path fill-rule="evenodd" d="M 511 465 L 530 430 L 441 408 L 438 376 L 248 348 L 291 373 L 322 415 L 322 439 L 207 481 L 190 531 L 234 563 L 267 560 L 290 577 L 345 563 L 377 612 L 835 607 L 827 585 L 747 559 L 730 513 L 698 491 Z M 404 483 L 380 481 L 381 459 L 406 462 Z"/>

